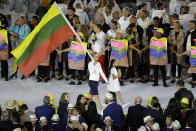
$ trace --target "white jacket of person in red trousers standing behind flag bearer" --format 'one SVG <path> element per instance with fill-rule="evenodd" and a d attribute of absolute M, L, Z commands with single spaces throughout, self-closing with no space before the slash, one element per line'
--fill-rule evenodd
<path fill-rule="evenodd" d="M 106 34 L 101 31 L 99 34 L 96 33 L 97 40 L 93 42 L 92 37 L 94 34 L 90 36 L 89 43 L 92 44 L 92 50 L 97 53 L 101 53 L 103 49 L 105 49 L 106 43 Z"/>

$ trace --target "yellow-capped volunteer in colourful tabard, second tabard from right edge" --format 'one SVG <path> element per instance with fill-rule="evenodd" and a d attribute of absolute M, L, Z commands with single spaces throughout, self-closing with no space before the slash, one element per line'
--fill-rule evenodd
<path fill-rule="evenodd" d="M 167 38 L 163 37 L 164 31 L 162 28 L 158 28 L 155 31 L 155 36 L 150 41 L 150 64 L 154 67 L 155 81 L 153 86 L 158 86 L 159 69 L 163 79 L 163 86 L 167 87 L 166 84 L 166 69 L 165 66 L 168 64 L 167 57 Z"/>

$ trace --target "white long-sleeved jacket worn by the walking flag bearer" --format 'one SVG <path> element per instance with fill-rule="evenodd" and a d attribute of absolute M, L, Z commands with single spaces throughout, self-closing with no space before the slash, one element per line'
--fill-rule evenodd
<path fill-rule="evenodd" d="M 89 80 L 99 81 L 100 75 L 101 75 L 101 77 L 104 79 L 104 81 L 106 83 L 108 83 L 108 80 L 107 80 L 106 76 L 104 75 L 103 70 L 101 68 L 101 64 L 99 62 L 97 62 L 97 64 L 94 65 L 94 62 L 91 61 L 88 64 L 88 70 L 89 70 L 89 74 L 90 74 Z"/>

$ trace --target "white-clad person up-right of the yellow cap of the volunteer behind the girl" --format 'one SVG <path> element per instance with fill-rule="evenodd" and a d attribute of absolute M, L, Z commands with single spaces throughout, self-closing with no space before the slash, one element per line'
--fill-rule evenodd
<path fill-rule="evenodd" d="M 122 30 L 123 36 L 126 36 L 126 30 L 130 24 L 130 17 L 131 17 L 132 12 L 133 12 L 132 9 L 125 7 L 123 9 L 123 16 L 120 17 L 120 19 L 118 20 L 119 29 Z"/>

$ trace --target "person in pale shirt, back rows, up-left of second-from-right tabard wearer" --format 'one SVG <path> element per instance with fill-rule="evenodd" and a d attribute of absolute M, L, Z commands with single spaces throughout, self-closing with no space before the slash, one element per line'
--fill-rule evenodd
<path fill-rule="evenodd" d="M 148 11 L 147 10 L 142 10 L 140 13 L 140 18 L 137 19 L 137 24 L 143 28 L 145 31 L 149 25 L 152 24 L 151 19 L 148 17 Z"/>

